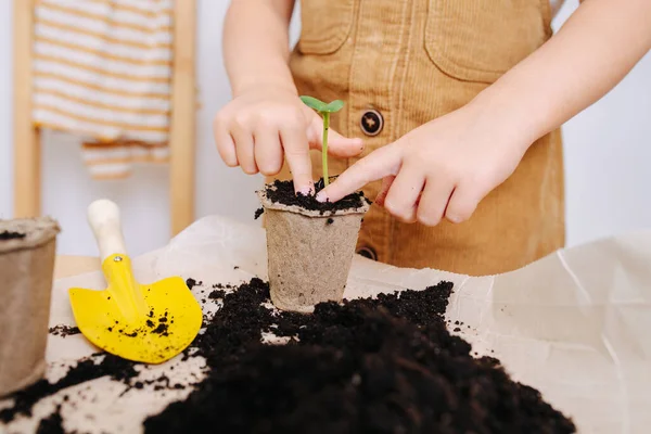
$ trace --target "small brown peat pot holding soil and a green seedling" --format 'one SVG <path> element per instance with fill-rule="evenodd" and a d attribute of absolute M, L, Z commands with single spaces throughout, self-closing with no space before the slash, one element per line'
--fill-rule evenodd
<path fill-rule="evenodd" d="M 316 193 L 330 180 L 330 114 L 339 112 L 344 103 L 301 99 L 323 118 L 323 177 L 315 183 L 315 192 L 307 195 L 295 194 L 291 180 L 276 180 L 258 191 L 258 196 L 266 215 L 271 302 L 279 309 L 307 314 L 319 303 L 343 299 L 361 220 L 370 202 L 361 191 L 334 203 L 316 200 Z"/>

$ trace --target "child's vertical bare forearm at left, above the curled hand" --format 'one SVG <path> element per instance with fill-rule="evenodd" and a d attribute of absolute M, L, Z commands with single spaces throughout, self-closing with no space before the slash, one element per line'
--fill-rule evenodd
<path fill-rule="evenodd" d="M 233 97 L 269 85 L 295 90 L 288 66 L 294 0 L 233 0 L 224 25 L 224 60 Z"/>

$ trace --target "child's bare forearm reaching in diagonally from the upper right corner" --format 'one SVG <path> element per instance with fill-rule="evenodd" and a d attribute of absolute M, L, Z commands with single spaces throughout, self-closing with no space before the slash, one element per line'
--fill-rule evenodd
<path fill-rule="evenodd" d="M 651 49 L 651 1 L 586 0 L 473 102 L 528 146 L 615 87 Z"/>

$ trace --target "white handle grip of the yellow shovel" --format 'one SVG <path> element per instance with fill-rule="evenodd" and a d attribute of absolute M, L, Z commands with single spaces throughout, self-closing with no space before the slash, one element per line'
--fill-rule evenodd
<path fill-rule="evenodd" d="M 88 222 L 100 248 L 102 263 L 111 255 L 127 254 L 122 232 L 119 208 L 107 199 L 100 199 L 88 206 Z"/>

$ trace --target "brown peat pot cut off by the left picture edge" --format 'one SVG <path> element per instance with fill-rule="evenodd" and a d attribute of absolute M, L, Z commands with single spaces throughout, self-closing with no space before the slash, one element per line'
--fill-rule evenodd
<path fill-rule="evenodd" d="M 46 370 L 55 220 L 0 220 L 0 396 Z"/>

